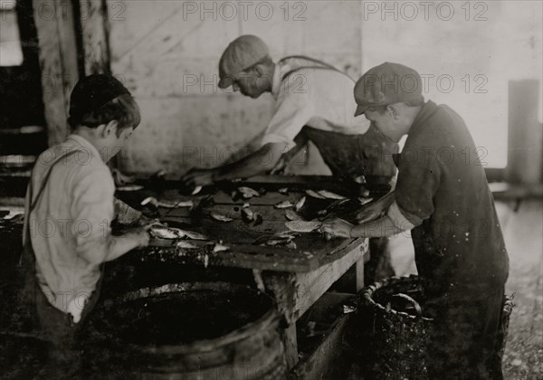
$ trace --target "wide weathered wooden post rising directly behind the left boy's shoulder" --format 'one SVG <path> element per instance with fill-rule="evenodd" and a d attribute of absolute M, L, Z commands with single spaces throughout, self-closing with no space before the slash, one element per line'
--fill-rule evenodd
<path fill-rule="evenodd" d="M 70 94 L 79 79 L 77 44 L 71 2 L 33 0 L 40 48 L 43 107 L 49 146 L 69 134 Z"/>

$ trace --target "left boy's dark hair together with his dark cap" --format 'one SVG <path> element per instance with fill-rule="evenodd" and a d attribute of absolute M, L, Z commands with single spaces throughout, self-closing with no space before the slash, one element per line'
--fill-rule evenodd
<path fill-rule="evenodd" d="M 117 136 L 124 128 L 136 128 L 141 121 L 138 103 L 115 77 L 94 74 L 81 78 L 71 91 L 71 128 L 97 128 L 117 120 Z"/>

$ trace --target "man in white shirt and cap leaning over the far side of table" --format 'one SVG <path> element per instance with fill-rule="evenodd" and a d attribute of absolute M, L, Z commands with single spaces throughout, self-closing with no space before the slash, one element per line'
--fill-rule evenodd
<path fill-rule="evenodd" d="M 308 141 L 319 149 L 333 176 L 366 176 L 368 181 L 371 177 L 386 185 L 395 177 L 392 154 L 397 144 L 370 127 L 367 119 L 355 118 L 355 82 L 328 63 L 304 56 L 273 62 L 266 43 L 254 35 L 242 35 L 224 51 L 219 76 L 219 87 L 232 86 L 253 99 L 271 92 L 275 112 L 258 150 L 228 165 L 192 169 L 183 177 L 186 185 L 268 173 L 283 166 Z M 372 245 L 384 251 L 386 240 Z M 388 261 L 384 262 L 374 265 L 393 274 Z M 368 273 L 367 280 L 371 277 Z"/>

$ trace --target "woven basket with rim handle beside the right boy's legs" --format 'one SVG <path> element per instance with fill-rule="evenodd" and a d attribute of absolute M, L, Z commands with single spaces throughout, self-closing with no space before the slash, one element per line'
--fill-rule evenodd
<path fill-rule="evenodd" d="M 424 340 L 433 318 L 424 317 L 423 281 L 392 277 L 360 292 L 357 320 L 363 371 L 367 378 L 427 379 Z M 512 298 L 505 297 L 500 357 L 505 349 Z M 399 311 L 399 310 L 402 311 Z"/>

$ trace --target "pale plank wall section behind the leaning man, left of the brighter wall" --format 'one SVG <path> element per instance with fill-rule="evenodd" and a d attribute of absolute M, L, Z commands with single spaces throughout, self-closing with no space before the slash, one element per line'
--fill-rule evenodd
<path fill-rule="evenodd" d="M 113 19 L 119 2 L 108 1 L 111 69 L 143 114 L 119 157 L 128 172 L 181 174 L 190 166 L 216 166 L 259 141 L 271 118 L 271 96 L 251 100 L 216 85 L 219 58 L 241 34 L 261 36 L 274 59 L 306 54 L 353 78 L 359 74 L 357 2 L 290 2 L 288 14 L 284 2 L 250 2 L 245 16 L 238 7 L 235 17 L 235 2 L 124 3 Z"/>

